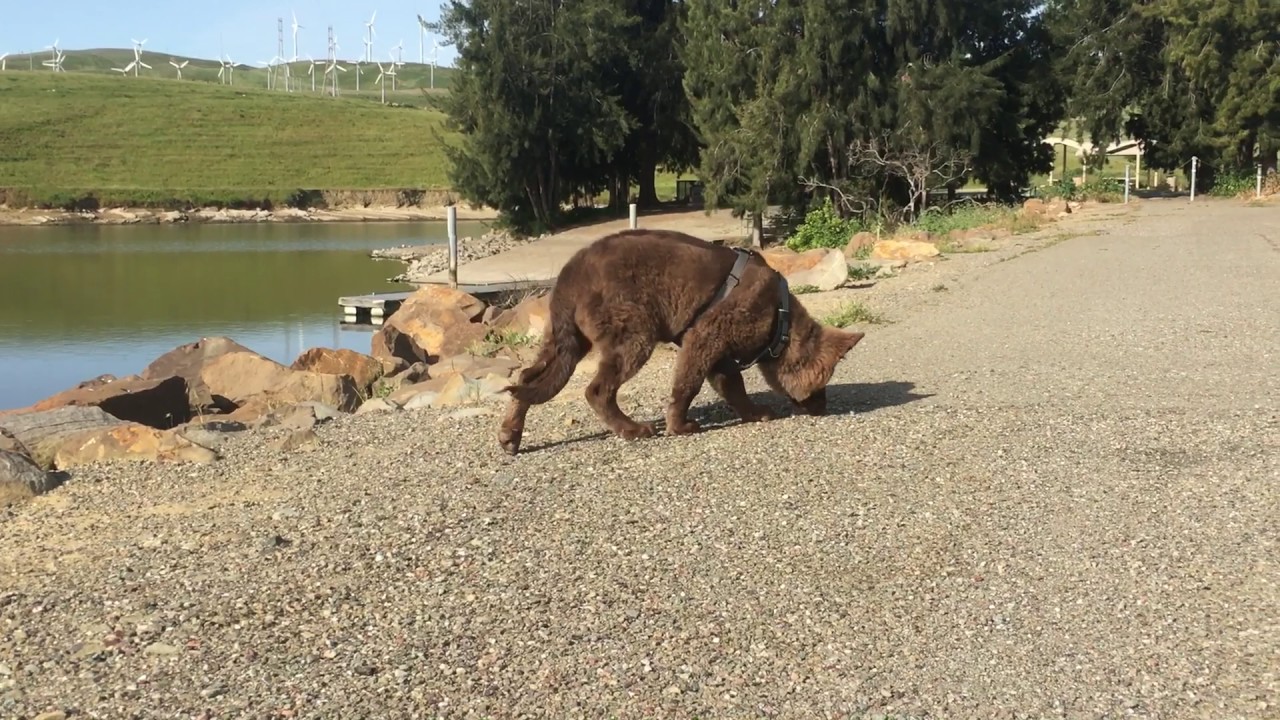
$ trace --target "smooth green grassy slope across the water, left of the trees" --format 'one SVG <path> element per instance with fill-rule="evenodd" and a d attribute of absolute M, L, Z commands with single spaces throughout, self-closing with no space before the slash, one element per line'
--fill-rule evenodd
<path fill-rule="evenodd" d="M 434 110 L 239 82 L 10 70 L 0 73 L 0 188 L 31 204 L 93 193 L 141 206 L 443 190 L 442 122 Z"/>

